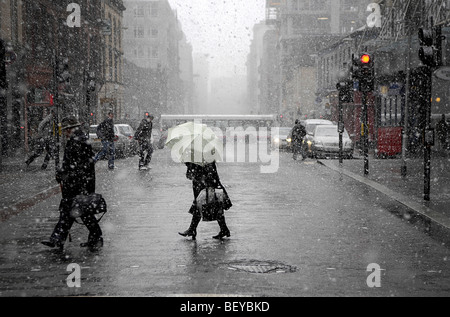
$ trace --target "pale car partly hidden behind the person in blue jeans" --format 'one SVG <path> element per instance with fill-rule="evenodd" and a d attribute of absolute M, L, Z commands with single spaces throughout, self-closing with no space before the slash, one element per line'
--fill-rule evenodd
<path fill-rule="evenodd" d="M 91 143 L 94 152 L 99 152 L 102 149 L 101 140 L 97 137 L 97 127 L 98 125 L 91 125 L 89 127 L 89 142 Z M 131 155 L 133 146 L 136 143 L 133 140 L 133 128 L 131 128 L 131 126 L 127 124 L 115 124 L 114 134 L 114 144 L 116 146 L 117 157 L 126 157 L 128 155 Z"/>

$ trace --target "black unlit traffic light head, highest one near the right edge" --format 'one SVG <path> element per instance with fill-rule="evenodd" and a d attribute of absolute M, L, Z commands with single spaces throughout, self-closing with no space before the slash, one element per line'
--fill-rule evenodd
<path fill-rule="evenodd" d="M 425 66 L 442 65 L 442 26 L 419 29 L 419 58 Z"/>

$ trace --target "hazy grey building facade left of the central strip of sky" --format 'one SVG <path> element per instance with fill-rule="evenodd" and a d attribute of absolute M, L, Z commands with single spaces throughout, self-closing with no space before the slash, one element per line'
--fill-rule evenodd
<path fill-rule="evenodd" d="M 127 0 L 125 6 L 125 58 L 155 75 L 148 87 L 150 94 L 140 102 L 156 115 L 184 113 L 190 107 L 185 105 L 188 102 L 185 88 L 192 86 L 192 80 L 181 79 L 181 68 L 185 76 L 191 66 L 180 65 L 181 62 L 189 64 L 189 58 L 185 57 L 189 48 L 176 12 L 167 0 Z"/>

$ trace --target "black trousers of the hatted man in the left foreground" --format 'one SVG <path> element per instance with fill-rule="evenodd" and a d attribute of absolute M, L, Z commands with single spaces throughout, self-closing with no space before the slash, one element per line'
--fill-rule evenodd
<path fill-rule="evenodd" d="M 59 205 L 59 221 L 50 237 L 50 240 L 57 244 L 64 244 L 72 228 L 75 218 L 70 216 L 73 198 L 63 198 Z M 102 237 L 102 230 L 97 219 L 93 215 L 80 217 L 83 224 L 89 230 L 88 243 L 95 243 Z"/>

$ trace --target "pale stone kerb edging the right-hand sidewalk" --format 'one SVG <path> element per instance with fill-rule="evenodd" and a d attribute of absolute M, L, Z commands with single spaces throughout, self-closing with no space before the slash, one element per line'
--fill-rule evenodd
<path fill-rule="evenodd" d="M 398 216 L 400 216 L 403 219 L 408 219 L 412 214 L 413 218 L 408 220 L 408 222 L 412 223 L 413 220 L 420 220 L 422 224 L 425 226 L 424 229 L 428 234 L 446 244 L 450 244 L 450 219 L 448 217 L 445 217 L 441 213 L 438 213 L 427 206 L 414 202 L 409 197 L 400 194 L 398 192 L 395 192 L 373 180 L 349 172 L 341 167 L 337 167 L 333 163 L 322 160 L 318 160 L 317 163 L 325 167 L 328 167 L 336 172 L 342 173 L 368 187 L 371 187 L 379 191 L 380 193 L 391 198 L 392 200 L 395 200 L 398 203 L 402 204 L 409 210 L 410 214 L 406 215 L 405 213 L 399 213 L 397 214 Z"/>

